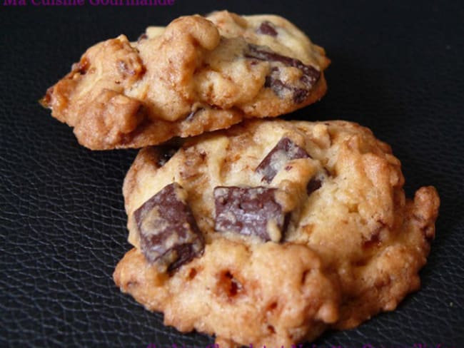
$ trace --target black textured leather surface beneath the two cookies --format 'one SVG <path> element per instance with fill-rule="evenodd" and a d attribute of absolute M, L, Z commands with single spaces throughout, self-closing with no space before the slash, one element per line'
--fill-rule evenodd
<path fill-rule="evenodd" d="M 326 98 L 290 118 L 372 128 L 402 160 L 408 195 L 435 185 L 442 199 L 422 290 L 358 329 L 324 334 L 317 347 L 464 347 L 463 4 L 291 0 L 0 5 L 0 346 L 213 342 L 163 327 L 113 284 L 129 249 L 121 185 L 136 151 L 80 147 L 36 101 L 96 41 L 223 8 L 281 14 L 326 48 Z"/>

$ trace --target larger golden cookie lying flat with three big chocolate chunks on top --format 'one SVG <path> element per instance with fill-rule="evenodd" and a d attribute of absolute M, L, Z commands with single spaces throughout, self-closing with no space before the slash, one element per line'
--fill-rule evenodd
<path fill-rule="evenodd" d="M 418 290 L 440 200 L 355 123 L 246 121 L 144 148 L 124 185 L 121 291 L 221 347 L 291 347 Z M 178 212 L 176 214 L 176 212 Z"/>

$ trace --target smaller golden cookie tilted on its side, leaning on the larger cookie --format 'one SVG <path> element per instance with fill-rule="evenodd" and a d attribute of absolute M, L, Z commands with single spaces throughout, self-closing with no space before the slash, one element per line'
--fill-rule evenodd
<path fill-rule="evenodd" d="M 314 103 L 328 63 L 279 16 L 184 16 L 92 46 L 41 103 L 87 148 L 141 148 Z"/>

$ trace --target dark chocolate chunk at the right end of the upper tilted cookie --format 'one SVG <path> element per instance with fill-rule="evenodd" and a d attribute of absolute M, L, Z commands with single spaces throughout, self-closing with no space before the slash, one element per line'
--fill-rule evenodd
<path fill-rule="evenodd" d="M 301 70 L 303 75 L 298 81 L 298 86 L 291 86 L 283 83 L 280 79 L 280 70 L 277 67 L 271 69 L 271 75 L 266 76 L 265 87 L 271 88 L 274 93 L 283 98 L 284 91 L 290 91 L 293 94 L 293 103 L 303 103 L 308 97 L 309 91 L 321 77 L 321 72 L 313 66 L 307 66 L 296 58 L 281 56 L 280 54 L 268 51 L 264 47 L 248 45 L 248 51 L 245 52 L 246 58 L 255 58 L 260 61 L 278 61 L 285 66 L 293 66 Z"/>

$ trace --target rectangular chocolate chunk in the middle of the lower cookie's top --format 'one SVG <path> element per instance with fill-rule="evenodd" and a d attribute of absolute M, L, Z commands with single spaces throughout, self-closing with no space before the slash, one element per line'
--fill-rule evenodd
<path fill-rule="evenodd" d="M 286 216 L 276 202 L 276 188 L 214 188 L 216 231 L 256 235 L 262 240 L 282 239 Z"/>

